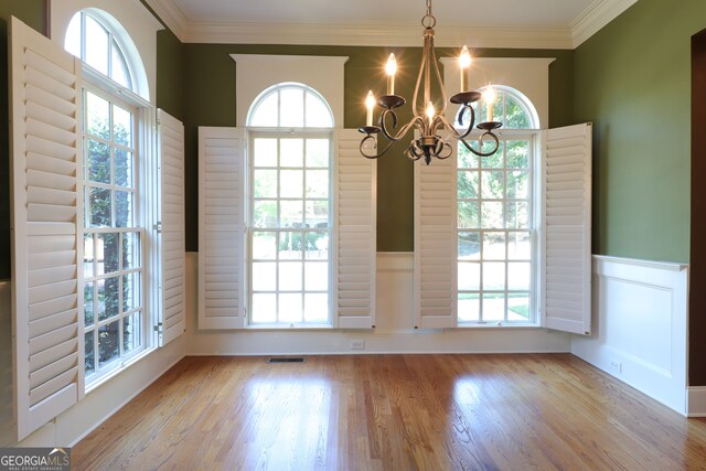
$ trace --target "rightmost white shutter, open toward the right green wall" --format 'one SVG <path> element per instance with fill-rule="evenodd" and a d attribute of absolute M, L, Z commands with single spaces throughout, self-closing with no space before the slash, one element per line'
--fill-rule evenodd
<path fill-rule="evenodd" d="M 542 312 L 549 329 L 591 332 L 590 124 L 544 131 Z"/>

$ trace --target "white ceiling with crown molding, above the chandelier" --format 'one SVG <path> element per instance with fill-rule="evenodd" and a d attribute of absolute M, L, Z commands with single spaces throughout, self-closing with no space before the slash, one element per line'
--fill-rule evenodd
<path fill-rule="evenodd" d="M 440 46 L 574 49 L 638 0 L 435 0 Z M 182 42 L 418 46 L 425 0 L 147 0 Z"/>

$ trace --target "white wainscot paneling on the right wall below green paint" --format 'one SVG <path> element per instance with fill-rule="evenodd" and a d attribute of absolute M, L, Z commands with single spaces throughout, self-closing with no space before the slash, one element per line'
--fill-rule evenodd
<path fill-rule="evenodd" d="M 593 257 L 593 335 L 571 353 L 687 414 L 686 265 Z"/>

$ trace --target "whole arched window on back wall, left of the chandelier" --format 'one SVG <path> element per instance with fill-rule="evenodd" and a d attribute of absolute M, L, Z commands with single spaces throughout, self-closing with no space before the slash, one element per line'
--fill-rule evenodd
<path fill-rule="evenodd" d="M 253 325 L 331 323 L 332 127 L 299 84 L 271 87 L 248 114 Z"/>

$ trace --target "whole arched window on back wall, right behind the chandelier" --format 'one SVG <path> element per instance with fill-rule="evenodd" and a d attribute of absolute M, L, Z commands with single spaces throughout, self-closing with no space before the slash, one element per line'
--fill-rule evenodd
<path fill-rule="evenodd" d="M 458 144 L 458 320 L 467 323 L 534 323 L 534 147 L 532 105 L 498 87 L 493 111 L 503 122 L 500 147 L 479 158 Z M 485 120 L 486 107 L 477 119 Z M 469 140 L 474 149 L 492 142 Z"/>

